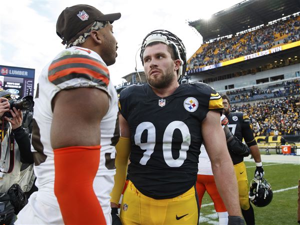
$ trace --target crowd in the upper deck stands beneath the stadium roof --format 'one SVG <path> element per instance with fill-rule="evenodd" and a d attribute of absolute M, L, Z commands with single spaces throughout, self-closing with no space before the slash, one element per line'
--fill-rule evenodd
<path fill-rule="evenodd" d="M 269 49 L 275 45 L 300 39 L 300 16 L 290 16 L 273 24 L 231 38 L 214 40 L 202 45 L 202 51 L 191 58 L 187 70 L 217 64 L 239 56 Z"/>

